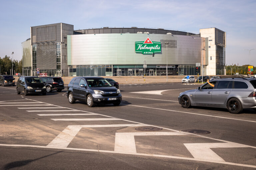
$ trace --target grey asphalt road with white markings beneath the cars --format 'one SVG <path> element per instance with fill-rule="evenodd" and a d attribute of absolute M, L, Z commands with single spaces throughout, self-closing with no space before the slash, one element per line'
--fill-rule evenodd
<path fill-rule="evenodd" d="M 120 85 L 120 106 L 0 87 L 0 169 L 255 169 L 256 113 L 182 108 L 182 83 Z M 153 126 L 158 131 L 135 128 Z M 181 130 L 199 129 L 196 135 Z"/>

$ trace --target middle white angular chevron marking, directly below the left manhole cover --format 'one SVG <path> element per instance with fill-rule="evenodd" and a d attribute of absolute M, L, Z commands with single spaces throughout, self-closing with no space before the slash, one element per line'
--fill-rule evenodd
<path fill-rule="evenodd" d="M 124 132 L 116 133 L 115 137 L 115 152 L 131 152 L 137 153 L 134 136 L 149 136 L 149 135 L 188 135 L 182 132 Z"/>

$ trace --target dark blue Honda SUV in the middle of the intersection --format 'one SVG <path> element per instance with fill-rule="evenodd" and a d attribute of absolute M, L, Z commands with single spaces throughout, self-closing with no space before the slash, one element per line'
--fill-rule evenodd
<path fill-rule="evenodd" d="M 67 97 L 69 103 L 80 100 L 85 101 L 89 107 L 95 104 L 118 106 L 122 100 L 120 90 L 102 77 L 74 77 L 68 84 Z"/>

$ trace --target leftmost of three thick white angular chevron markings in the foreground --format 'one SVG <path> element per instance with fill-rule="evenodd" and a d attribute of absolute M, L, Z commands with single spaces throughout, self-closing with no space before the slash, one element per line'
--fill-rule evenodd
<path fill-rule="evenodd" d="M 70 125 L 56 136 L 47 146 L 66 148 L 81 128 L 106 128 L 106 127 L 136 127 L 142 124 L 120 124 L 120 125 Z"/>

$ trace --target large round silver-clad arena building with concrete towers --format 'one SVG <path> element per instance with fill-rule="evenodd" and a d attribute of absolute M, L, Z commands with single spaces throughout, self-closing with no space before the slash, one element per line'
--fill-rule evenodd
<path fill-rule="evenodd" d="M 23 75 L 134 76 L 224 74 L 226 33 L 148 28 L 74 30 L 57 23 L 30 27 L 22 42 Z M 39 70 L 39 71 L 37 71 Z"/>

